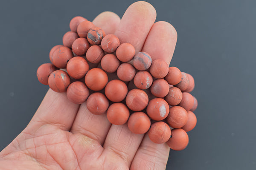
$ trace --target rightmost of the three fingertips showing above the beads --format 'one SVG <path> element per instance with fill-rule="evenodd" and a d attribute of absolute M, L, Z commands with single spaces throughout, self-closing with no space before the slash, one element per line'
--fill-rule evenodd
<path fill-rule="evenodd" d="M 175 28 L 165 21 L 154 23 L 145 41 L 142 51 L 152 59 L 163 59 L 169 65 L 177 42 Z"/>

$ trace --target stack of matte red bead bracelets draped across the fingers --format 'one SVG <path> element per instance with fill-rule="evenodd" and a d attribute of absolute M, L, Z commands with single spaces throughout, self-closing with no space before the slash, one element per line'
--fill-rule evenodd
<path fill-rule="evenodd" d="M 70 29 L 63 45 L 51 49 L 52 63 L 38 68 L 39 82 L 71 102 L 86 102 L 92 114 L 106 113 L 114 125 L 127 122 L 131 132 L 183 150 L 197 122 L 198 102 L 189 94 L 194 78 L 146 52 L 135 54 L 133 45 L 120 44 L 84 17 L 74 17 Z"/>

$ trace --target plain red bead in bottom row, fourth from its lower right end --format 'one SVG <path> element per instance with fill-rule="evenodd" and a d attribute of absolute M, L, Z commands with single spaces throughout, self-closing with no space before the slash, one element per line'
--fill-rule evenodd
<path fill-rule="evenodd" d="M 129 109 L 122 103 L 113 103 L 107 111 L 108 121 L 114 125 L 123 125 L 130 116 Z"/>

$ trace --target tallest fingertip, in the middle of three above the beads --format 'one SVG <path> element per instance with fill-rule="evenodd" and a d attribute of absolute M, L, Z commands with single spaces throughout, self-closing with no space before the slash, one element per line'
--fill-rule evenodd
<path fill-rule="evenodd" d="M 141 51 L 156 16 L 156 10 L 151 4 L 143 1 L 133 3 L 125 11 L 115 35 L 121 44 L 132 44 L 137 53 Z"/>

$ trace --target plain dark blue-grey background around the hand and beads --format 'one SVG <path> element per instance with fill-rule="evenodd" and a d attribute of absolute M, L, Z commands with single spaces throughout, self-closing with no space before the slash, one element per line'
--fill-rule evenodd
<path fill-rule="evenodd" d="M 36 70 L 62 43 L 71 18 L 93 20 L 102 11 L 122 17 L 132 2 L 1 0 L 0 150 L 26 127 L 47 92 Z M 176 28 L 171 65 L 194 76 L 199 102 L 189 145 L 170 152 L 167 169 L 256 169 L 256 1 L 148 2 L 157 21 Z"/>

